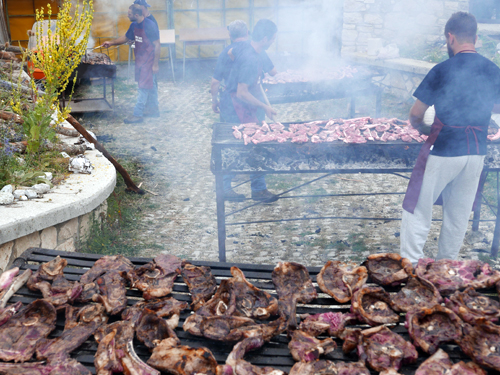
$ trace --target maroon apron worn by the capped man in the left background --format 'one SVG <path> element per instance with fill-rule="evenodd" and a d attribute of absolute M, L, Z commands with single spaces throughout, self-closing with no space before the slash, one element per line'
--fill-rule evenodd
<path fill-rule="evenodd" d="M 146 20 L 142 21 L 143 23 Z M 144 27 L 144 24 L 143 24 Z M 135 80 L 140 89 L 152 89 L 153 64 L 155 61 L 155 46 L 146 36 L 144 28 L 136 27 L 135 36 Z"/>

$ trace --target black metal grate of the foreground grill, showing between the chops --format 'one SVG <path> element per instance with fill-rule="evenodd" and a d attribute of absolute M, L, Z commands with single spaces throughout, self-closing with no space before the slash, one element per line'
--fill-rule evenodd
<path fill-rule="evenodd" d="M 94 262 L 99 259 L 102 255 L 96 254 L 82 254 L 82 253 L 70 253 L 56 250 L 48 250 L 41 248 L 30 248 L 26 250 L 19 258 L 14 261 L 13 266 L 18 266 L 19 268 L 27 269 L 35 271 L 38 267 L 48 261 L 53 260 L 56 256 L 60 256 L 68 261 L 68 267 L 65 268 L 64 276 L 70 280 L 75 281 L 79 280 L 80 276 L 84 274 Z M 135 266 L 142 266 L 145 263 L 151 261 L 149 258 L 130 258 L 130 260 L 134 263 Z M 252 284 L 258 288 L 266 290 L 270 292 L 273 296 L 276 296 L 274 292 L 274 286 L 271 281 L 271 272 L 274 268 L 273 265 L 258 265 L 258 264 L 235 264 L 235 263 L 218 263 L 218 262 L 202 262 L 202 261 L 194 261 L 193 264 L 197 266 L 209 266 L 212 269 L 212 273 L 217 279 L 217 283 L 220 284 L 220 281 L 223 278 L 231 277 L 230 268 L 231 266 L 239 267 L 244 273 L 245 276 L 251 280 Z M 316 282 L 316 275 L 320 271 L 320 267 L 309 267 L 308 270 L 310 272 L 311 278 L 313 282 Z M 346 313 L 349 310 L 349 304 L 339 304 L 333 298 L 323 294 L 319 288 L 317 288 L 319 298 L 312 301 L 310 304 L 299 305 L 297 306 L 298 314 L 316 314 L 326 311 L 335 311 L 335 312 L 343 312 Z M 398 288 L 387 288 L 390 292 L 396 292 Z M 497 298 L 497 293 L 495 290 L 486 290 L 483 291 L 483 294 L 488 295 L 492 298 Z M 191 297 L 189 295 L 189 290 L 187 286 L 184 284 L 182 279 L 179 277 L 174 286 L 172 296 L 180 301 L 191 302 Z M 17 301 L 21 301 L 24 304 L 33 302 L 35 299 L 42 298 L 41 293 L 32 292 L 27 287 L 21 288 L 16 295 L 14 295 L 10 299 L 10 303 L 15 303 Z M 135 289 L 129 289 L 127 291 L 128 305 L 133 305 L 136 302 L 142 301 L 142 293 Z M 208 340 L 205 338 L 192 336 L 187 332 L 182 330 L 182 324 L 186 320 L 186 318 L 190 315 L 190 311 L 185 311 L 181 314 L 179 327 L 175 330 L 179 339 L 181 340 L 182 345 L 188 345 L 191 347 L 201 347 L 204 346 L 212 351 L 217 362 L 222 364 L 225 362 L 228 354 L 231 352 L 233 345 L 230 343 L 221 343 L 217 341 Z M 111 318 L 108 323 L 112 323 L 116 318 Z M 57 337 L 61 335 L 64 327 L 64 320 L 59 315 L 59 318 L 56 323 L 56 329 L 52 332 L 49 338 Z M 353 327 L 353 326 L 351 326 Z M 360 328 L 367 328 L 367 326 L 360 326 Z M 394 331 L 401 334 L 406 340 L 409 340 L 409 336 L 407 334 L 406 329 L 404 328 L 404 316 L 401 316 L 399 324 L 394 328 Z M 337 342 L 337 349 L 332 353 L 329 353 L 323 358 L 330 359 L 333 361 L 357 361 L 357 355 L 355 353 L 345 355 L 342 352 L 342 343 L 339 339 L 334 339 Z M 150 352 L 147 348 L 140 343 L 139 341 L 134 341 L 134 347 L 139 355 L 139 357 L 146 361 Z M 450 358 L 457 362 L 459 360 L 464 360 L 466 362 L 470 361 L 468 357 L 466 357 L 463 352 L 456 345 L 444 345 L 442 347 L 449 355 Z M 75 358 L 79 362 L 81 362 L 85 367 L 87 367 L 93 374 L 95 374 L 94 368 L 94 355 L 97 350 L 97 344 L 94 338 L 88 339 L 83 345 L 81 345 L 78 349 L 71 353 L 71 357 Z M 404 366 L 403 369 L 399 370 L 399 372 L 403 375 L 413 375 L 415 373 L 416 368 L 428 358 L 428 355 L 419 353 L 418 363 L 414 365 Z M 274 337 L 269 343 L 266 343 L 262 348 L 252 351 L 245 356 L 245 360 L 248 362 L 264 367 L 271 366 L 277 369 L 281 369 L 283 371 L 289 372 L 295 361 L 293 360 L 290 351 L 288 349 L 288 339 L 285 334 Z M 372 374 L 376 374 L 376 372 L 372 372 Z M 489 371 L 489 375 L 499 375 L 500 373 L 497 371 Z"/>

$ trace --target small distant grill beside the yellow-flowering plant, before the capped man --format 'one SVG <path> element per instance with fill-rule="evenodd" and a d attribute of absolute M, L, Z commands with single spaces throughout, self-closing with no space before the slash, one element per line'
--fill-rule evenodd
<path fill-rule="evenodd" d="M 82 57 L 81 63 L 73 73 L 77 79 L 102 80 L 103 95 L 101 98 L 73 98 L 69 103 L 72 112 L 103 112 L 113 111 L 115 107 L 116 65 L 104 53 L 89 52 Z M 106 85 L 111 81 L 111 103 L 107 99 Z M 63 106 L 65 100 L 63 98 Z"/>

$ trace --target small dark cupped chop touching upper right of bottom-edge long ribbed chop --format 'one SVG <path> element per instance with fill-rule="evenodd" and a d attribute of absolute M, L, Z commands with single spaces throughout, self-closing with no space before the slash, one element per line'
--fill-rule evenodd
<path fill-rule="evenodd" d="M 141 320 L 135 327 L 137 339 L 148 349 L 153 349 L 160 341 L 172 338 L 177 344 L 180 340 L 167 321 L 160 318 L 154 311 L 146 309 Z"/>

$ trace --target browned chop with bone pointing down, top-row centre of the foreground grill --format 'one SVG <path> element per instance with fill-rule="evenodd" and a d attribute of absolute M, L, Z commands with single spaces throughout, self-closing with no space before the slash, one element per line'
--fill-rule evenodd
<path fill-rule="evenodd" d="M 279 296 L 280 313 L 288 319 L 288 328 L 297 327 L 297 303 L 309 303 L 318 293 L 307 268 L 299 263 L 280 262 L 272 273 L 273 284 Z"/>

